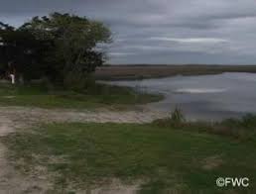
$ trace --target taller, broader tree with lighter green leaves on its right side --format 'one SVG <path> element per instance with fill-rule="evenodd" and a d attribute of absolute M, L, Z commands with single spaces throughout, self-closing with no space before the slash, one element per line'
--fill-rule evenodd
<path fill-rule="evenodd" d="M 77 73 L 86 76 L 93 72 L 104 62 L 104 52 L 98 46 L 111 42 L 111 33 L 102 23 L 69 14 L 35 17 L 20 30 L 48 43 L 46 75 L 61 83 Z"/>

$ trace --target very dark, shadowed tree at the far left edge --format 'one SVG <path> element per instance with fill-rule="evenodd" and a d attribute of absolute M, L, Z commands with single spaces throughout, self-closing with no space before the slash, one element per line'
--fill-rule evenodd
<path fill-rule="evenodd" d="M 41 50 L 40 43 L 28 31 L 15 29 L 0 23 L 0 63 L 1 72 L 15 73 L 26 80 L 40 76 Z"/>

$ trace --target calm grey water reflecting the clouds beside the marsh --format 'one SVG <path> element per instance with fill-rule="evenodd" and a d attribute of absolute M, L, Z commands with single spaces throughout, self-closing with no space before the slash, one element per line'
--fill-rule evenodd
<path fill-rule="evenodd" d="M 219 120 L 256 113 L 256 74 L 253 73 L 175 76 L 109 83 L 162 93 L 166 99 L 149 104 L 150 108 L 171 112 L 179 107 L 192 120 Z"/>

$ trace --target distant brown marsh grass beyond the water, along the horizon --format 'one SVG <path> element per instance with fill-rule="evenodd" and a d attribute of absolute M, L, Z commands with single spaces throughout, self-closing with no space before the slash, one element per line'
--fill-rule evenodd
<path fill-rule="evenodd" d="M 109 65 L 99 67 L 96 78 L 105 80 L 204 75 L 222 72 L 256 72 L 256 65 Z"/>

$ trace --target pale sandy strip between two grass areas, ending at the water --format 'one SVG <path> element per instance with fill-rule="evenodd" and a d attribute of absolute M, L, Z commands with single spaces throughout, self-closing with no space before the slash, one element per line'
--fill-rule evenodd
<path fill-rule="evenodd" d="M 104 109 L 96 111 L 75 111 L 0 107 L 0 117 L 9 118 L 12 122 L 18 122 L 19 124 L 29 124 L 31 122 L 150 123 L 166 116 L 166 113 L 147 109 L 114 112 Z"/>

